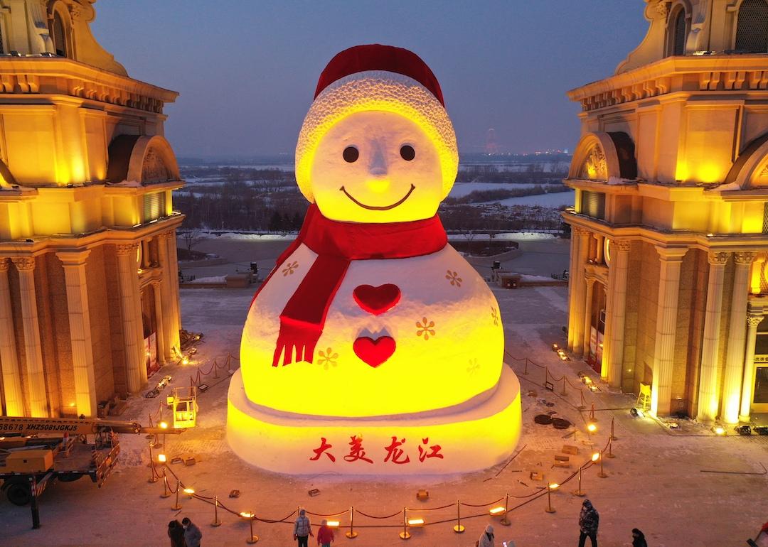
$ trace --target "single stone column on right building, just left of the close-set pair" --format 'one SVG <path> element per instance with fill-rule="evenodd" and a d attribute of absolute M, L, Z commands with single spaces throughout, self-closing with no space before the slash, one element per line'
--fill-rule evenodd
<path fill-rule="evenodd" d="M 657 247 L 656 250 L 660 255 L 661 262 L 650 412 L 654 416 L 666 416 L 670 414 L 670 401 L 672 399 L 677 298 L 680 295 L 680 265 L 687 249 Z"/>

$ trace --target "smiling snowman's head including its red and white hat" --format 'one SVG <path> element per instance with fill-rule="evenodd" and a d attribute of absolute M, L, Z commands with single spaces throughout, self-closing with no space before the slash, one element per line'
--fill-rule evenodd
<path fill-rule="evenodd" d="M 457 169 L 451 120 L 421 59 L 382 45 L 356 46 L 333 58 L 296 145 L 296 181 L 323 216 L 429 218 Z"/>

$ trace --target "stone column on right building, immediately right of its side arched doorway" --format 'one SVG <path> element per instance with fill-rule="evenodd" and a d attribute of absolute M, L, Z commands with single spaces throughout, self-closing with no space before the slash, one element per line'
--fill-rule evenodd
<path fill-rule="evenodd" d="M 627 272 L 631 242 L 627 239 L 616 239 L 610 245 L 611 265 L 609 267 L 615 274 L 614 284 L 608 288 L 613 295 L 613 305 L 610 317 L 611 336 L 607 343 L 607 380 L 611 387 L 621 387 L 624 369 L 624 319 L 627 312 Z"/>

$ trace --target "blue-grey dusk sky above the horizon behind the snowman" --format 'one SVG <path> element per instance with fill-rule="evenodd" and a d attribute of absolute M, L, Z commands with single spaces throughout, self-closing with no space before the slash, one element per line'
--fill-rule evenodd
<path fill-rule="evenodd" d="M 442 86 L 462 152 L 572 149 L 565 92 L 640 43 L 642 0 L 101 0 L 91 28 L 131 77 L 180 92 L 166 136 L 184 157 L 293 153 L 320 71 L 356 44 L 408 48 Z"/>

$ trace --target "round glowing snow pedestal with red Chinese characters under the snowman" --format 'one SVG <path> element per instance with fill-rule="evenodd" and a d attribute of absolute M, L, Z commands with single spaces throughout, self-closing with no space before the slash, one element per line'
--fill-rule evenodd
<path fill-rule="evenodd" d="M 234 453 L 247 463 L 286 474 L 483 470 L 511 456 L 521 427 L 520 384 L 506 366 L 495 389 L 484 397 L 417 414 L 350 418 L 280 412 L 247 399 L 240 371 L 230 381 L 227 404 L 227 441 Z"/>

